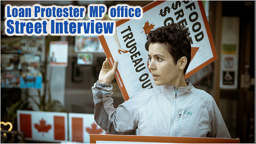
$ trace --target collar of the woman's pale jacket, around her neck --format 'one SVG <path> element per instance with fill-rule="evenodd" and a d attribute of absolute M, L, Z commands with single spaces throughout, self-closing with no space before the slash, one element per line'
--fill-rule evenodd
<path fill-rule="evenodd" d="M 178 90 L 178 94 L 188 93 L 191 91 L 191 89 L 193 89 L 194 86 L 190 82 L 186 82 L 186 83 L 188 86 L 185 86 L 185 87 L 180 86 L 179 90 Z M 177 90 L 174 91 L 174 85 L 163 85 L 162 90 L 164 92 L 168 92 L 168 93 L 170 93 L 170 92 L 175 93 L 175 91 L 177 91 Z"/>

